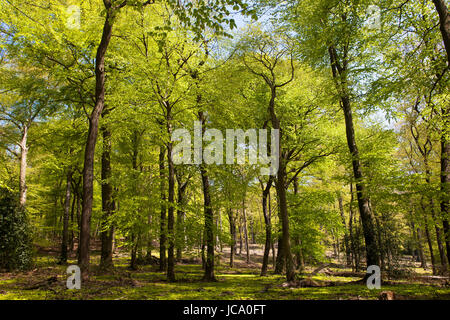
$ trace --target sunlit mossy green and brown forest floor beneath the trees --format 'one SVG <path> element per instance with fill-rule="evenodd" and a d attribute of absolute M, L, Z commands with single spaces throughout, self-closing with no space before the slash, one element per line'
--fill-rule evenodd
<path fill-rule="evenodd" d="M 72 255 L 67 265 L 58 265 L 55 248 L 41 248 L 37 252 L 35 268 L 28 272 L 0 273 L 0 300 L 368 300 L 379 299 L 382 291 L 392 291 L 395 299 L 450 300 L 448 277 L 433 277 L 431 271 L 418 268 L 405 257 L 408 272 L 395 279 L 383 278 L 381 289 L 369 290 L 366 284 L 354 283 L 364 273 L 351 269 L 330 258 L 330 265 L 314 274 L 317 266 L 307 266 L 302 278 L 309 285 L 299 287 L 286 283 L 281 275 L 274 275 L 272 264 L 268 276 L 260 276 L 261 247 L 252 246 L 250 263 L 243 253 L 235 259 L 235 267 L 228 266 L 229 250 L 224 249 L 216 260 L 217 282 L 201 281 L 203 270 L 196 257 L 185 258 L 176 265 L 177 281 L 170 283 L 157 265 L 129 269 L 129 256 L 120 250 L 114 255 L 114 270 L 101 272 L 96 267 L 99 251 L 91 255 L 92 272 L 81 290 L 66 289 L 67 265 L 76 264 Z M 272 258 L 272 257 L 271 257 Z M 272 259 L 270 259 L 270 262 Z"/>

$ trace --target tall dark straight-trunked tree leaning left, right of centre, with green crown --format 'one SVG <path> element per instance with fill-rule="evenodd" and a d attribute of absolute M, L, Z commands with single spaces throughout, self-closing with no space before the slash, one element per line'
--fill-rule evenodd
<path fill-rule="evenodd" d="M 298 19 L 294 13 L 302 5 L 307 6 L 303 13 L 304 19 Z M 359 74 L 354 73 L 351 67 L 359 62 L 358 59 L 365 57 L 362 54 L 365 52 L 363 51 L 364 37 L 361 33 L 365 20 L 360 15 L 361 10 L 365 10 L 365 5 L 366 3 L 357 1 L 318 1 L 313 5 L 306 4 L 305 1 L 296 1 L 286 12 L 291 15 L 288 19 L 298 33 L 300 43 L 304 45 L 302 49 L 308 46 L 306 56 L 310 61 L 320 61 L 322 65 L 325 58 L 329 61 L 335 85 L 334 92 L 339 99 L 345 118 L 345 133 L 351 154 L 356 196 L 366 245 L 366 262 L 367 265 L 380 265 L 374 216 L 370 208 L 361 155 L 355 136 L 352 108 L 352 101 L 355 101 L 353 98 L 355 88 L 352 88 L 352 84 L 359 81 Z M 358 57 L 356 59 L 358 61 L 355 57 Z"/>

